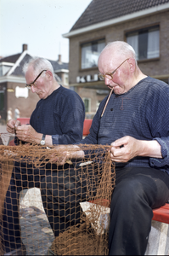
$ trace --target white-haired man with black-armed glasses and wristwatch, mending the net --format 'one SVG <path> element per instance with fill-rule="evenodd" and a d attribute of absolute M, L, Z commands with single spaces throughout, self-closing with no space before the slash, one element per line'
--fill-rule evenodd
<path fill-rule="evenodd" d="M 31 114 L 30 125 L 20 125 L 20 121 L 13 119 L 8 121 L 7 131 L 16 134 L 15 142 L 50 147 L 82 140 L 85 108 L 81 97 L 58 84 L 54 78 L 54 69 L 46 59 L 31 59 L 23 71 L 25 86 L 37 93 L 40 101 Z M 48 164 L 45 168 L 51 170 L 52 166 Z M 6 255 L 25 254 L 25 246 L 20 239 L 18 198 L 24 187 L 40 187 L 46 175 L 45 168 L 14 162 L 3 212 L 3 246 Z"/>

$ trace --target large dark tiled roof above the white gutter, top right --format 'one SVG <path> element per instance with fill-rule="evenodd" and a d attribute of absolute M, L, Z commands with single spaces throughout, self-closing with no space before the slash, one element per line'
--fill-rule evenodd
<path fill-rule="evenodd" d="M 93 0 L 72 26 L 70 32 L 164 3 L 169 3 L 169 0 Z"/>

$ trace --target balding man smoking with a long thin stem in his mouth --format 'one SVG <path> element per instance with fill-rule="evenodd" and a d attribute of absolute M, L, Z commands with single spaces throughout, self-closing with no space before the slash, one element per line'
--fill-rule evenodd
<path fill-rule="evenodd" d="M 110 145 L 115 163 L 110 255 L 144 255 L 152 209 L 169 200 L 169 86 L 144 75 L 134 49 L 125 42 L 108 44 L 99 55 L 98 66 L 110 96 L 100 103 L 90 134 L 79 143 Z M 90 154 L 79 150 L 65 154 L 65 160 L 85 159 Z M 54 155 L 53 160 L 57 160 Z M 53 189 L 57 194 L 57 187 Z M 45 197 L 45 189 L 42 194 Z"/>

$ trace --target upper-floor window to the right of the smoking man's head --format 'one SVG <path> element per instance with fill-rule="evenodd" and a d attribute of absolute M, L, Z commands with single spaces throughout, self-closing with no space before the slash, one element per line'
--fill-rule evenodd
<path fill-rule="evenodd" d="M 132 45 L 138 61 L 160 56 L 159 35 L 159 26 L 126 33 L 127 43 Z"/>

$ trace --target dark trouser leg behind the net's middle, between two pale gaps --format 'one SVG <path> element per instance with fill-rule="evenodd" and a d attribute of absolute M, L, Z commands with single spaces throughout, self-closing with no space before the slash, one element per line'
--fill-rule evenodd
<path fill-rule="evenodd" d="M 42 204 L 54 236 L 80 223 L 82 208 L 79 203 L 93 199 L 98 183 L 99 173 L 93 166 L 71 166 L 42 179 Z"/>

